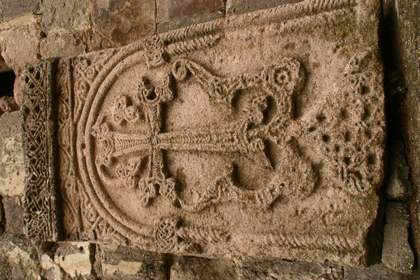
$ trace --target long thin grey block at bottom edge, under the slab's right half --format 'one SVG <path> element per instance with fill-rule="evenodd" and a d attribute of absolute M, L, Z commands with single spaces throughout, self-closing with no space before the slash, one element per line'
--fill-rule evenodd
<path fill-rule="evenodd" d="M 343 279 L 344 267 L 328 262 L 297 262 L 281 259 L 234 258 L 239 279 Z"/>

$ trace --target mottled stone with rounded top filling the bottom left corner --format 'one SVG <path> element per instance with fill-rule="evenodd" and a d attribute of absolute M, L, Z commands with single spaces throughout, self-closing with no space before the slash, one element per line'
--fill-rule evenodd
<path fill-rule="evenodd" d="M 36 249 L 28 240 L 6 233 L 0 237 L 1 280 L 40 280 L 38 264 Z"/>

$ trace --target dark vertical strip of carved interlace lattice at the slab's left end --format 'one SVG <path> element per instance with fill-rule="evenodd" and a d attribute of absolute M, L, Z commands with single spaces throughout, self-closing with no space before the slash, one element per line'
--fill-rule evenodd
<path fill-rule="evenodd" d="M 57 61 L 29 66 L 22 73 L 22 129 L 25 153 L 25 235 L 57 241 L 57 135 L 55 75 Z"/>

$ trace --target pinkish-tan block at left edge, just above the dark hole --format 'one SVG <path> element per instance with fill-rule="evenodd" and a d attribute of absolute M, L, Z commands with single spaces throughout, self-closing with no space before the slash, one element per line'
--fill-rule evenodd
<path fill-rule="evenodd" d="M 28 15 L 0 25 L 1 56 L 15 72 L 39 58 L 39 20 L 38 15 Z"/>

